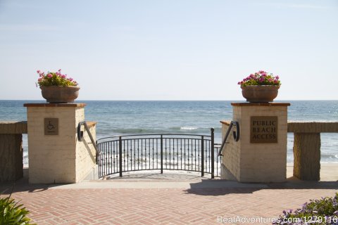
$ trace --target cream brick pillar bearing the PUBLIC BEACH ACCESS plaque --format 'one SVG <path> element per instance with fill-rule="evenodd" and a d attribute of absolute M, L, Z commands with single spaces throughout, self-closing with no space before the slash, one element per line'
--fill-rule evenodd
<path fill-rule="evenodd" d="M 240 182 L 282 182 L 287 176 L 289 103 L 232 103 L 239 141 L 232 132 L 223 148 L 221 178 Z M 223 138 L 227 124 L 223 123 Z M 235 131 L 235 129 L 234 129 Z"/>

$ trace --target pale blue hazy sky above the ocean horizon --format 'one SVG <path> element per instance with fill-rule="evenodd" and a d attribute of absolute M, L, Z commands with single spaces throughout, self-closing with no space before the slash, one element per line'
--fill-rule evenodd
<path fill-rule="evenodd" d="M 58 69 L 79 101 L 240 101 L 258 70 L 276 100 L 337 100 L 338 0 L 0 0 L 0 99 Z"/>

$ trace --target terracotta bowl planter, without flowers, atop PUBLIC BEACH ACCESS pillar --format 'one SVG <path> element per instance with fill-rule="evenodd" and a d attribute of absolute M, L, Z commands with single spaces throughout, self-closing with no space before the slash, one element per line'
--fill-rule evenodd
<path fill-rule="evenodd" d="M 242 95 L 251 103 L 268 103 L 277 97 L 279 88 L 276 85 L 242 86 Z"/>

